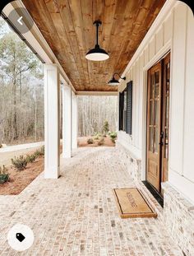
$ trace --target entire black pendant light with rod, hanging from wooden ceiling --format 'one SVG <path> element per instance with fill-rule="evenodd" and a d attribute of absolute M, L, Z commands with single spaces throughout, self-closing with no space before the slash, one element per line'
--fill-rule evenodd
<path fill-rule="evenodd" d="M 93 24 L 96 26 L 96 44 L 95 48 L 90 49 L 90 51 L 85 55 L 85 58 L 96 62 L 104 61 L 109 58 L 109 54 L 99 47 L 99 26 L 102 25 L 102 22 L 95 21 Z"/>

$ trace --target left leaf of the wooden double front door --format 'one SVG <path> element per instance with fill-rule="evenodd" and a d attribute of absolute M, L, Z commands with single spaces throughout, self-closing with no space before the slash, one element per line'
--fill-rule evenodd
<path fill-rule="evenodd" d="M 148 72 L 147 107 L 147 170 L 146 179 L 155 189 L 160 188 L 159 178 L 159 134 L 161 108 L 161 63 Z"/>

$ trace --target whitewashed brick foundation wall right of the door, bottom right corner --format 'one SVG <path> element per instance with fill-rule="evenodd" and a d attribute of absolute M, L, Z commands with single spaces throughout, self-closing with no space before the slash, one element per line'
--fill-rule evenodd
<path fill-rule="evenodd" d="M 164 189 L 164 223 L 187 256 L 194 255 L 194 205 L 168 183 Z"/>

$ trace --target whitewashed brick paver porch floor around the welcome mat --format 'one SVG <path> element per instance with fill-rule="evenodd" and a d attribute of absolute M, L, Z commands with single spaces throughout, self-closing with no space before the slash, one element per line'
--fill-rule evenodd
<path fill-rule="evenodd" d="M 115 148 L 81 148 L 62 161 L 62 176 L 39 175 L 20 195 L 0 196 L 0 255 L 182 255 L 159 219 L 121 219 L 113 188 L 134 186 Z M 30 226 L 25 253 L 7 244 L 16 223 Z"/>

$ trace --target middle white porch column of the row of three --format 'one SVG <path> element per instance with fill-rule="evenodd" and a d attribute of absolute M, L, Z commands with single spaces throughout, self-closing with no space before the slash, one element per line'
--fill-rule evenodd
<path fill-rule="evenodd" d="M 72 156 L 72 89 L 62 86 L 62 157 Z"/>

